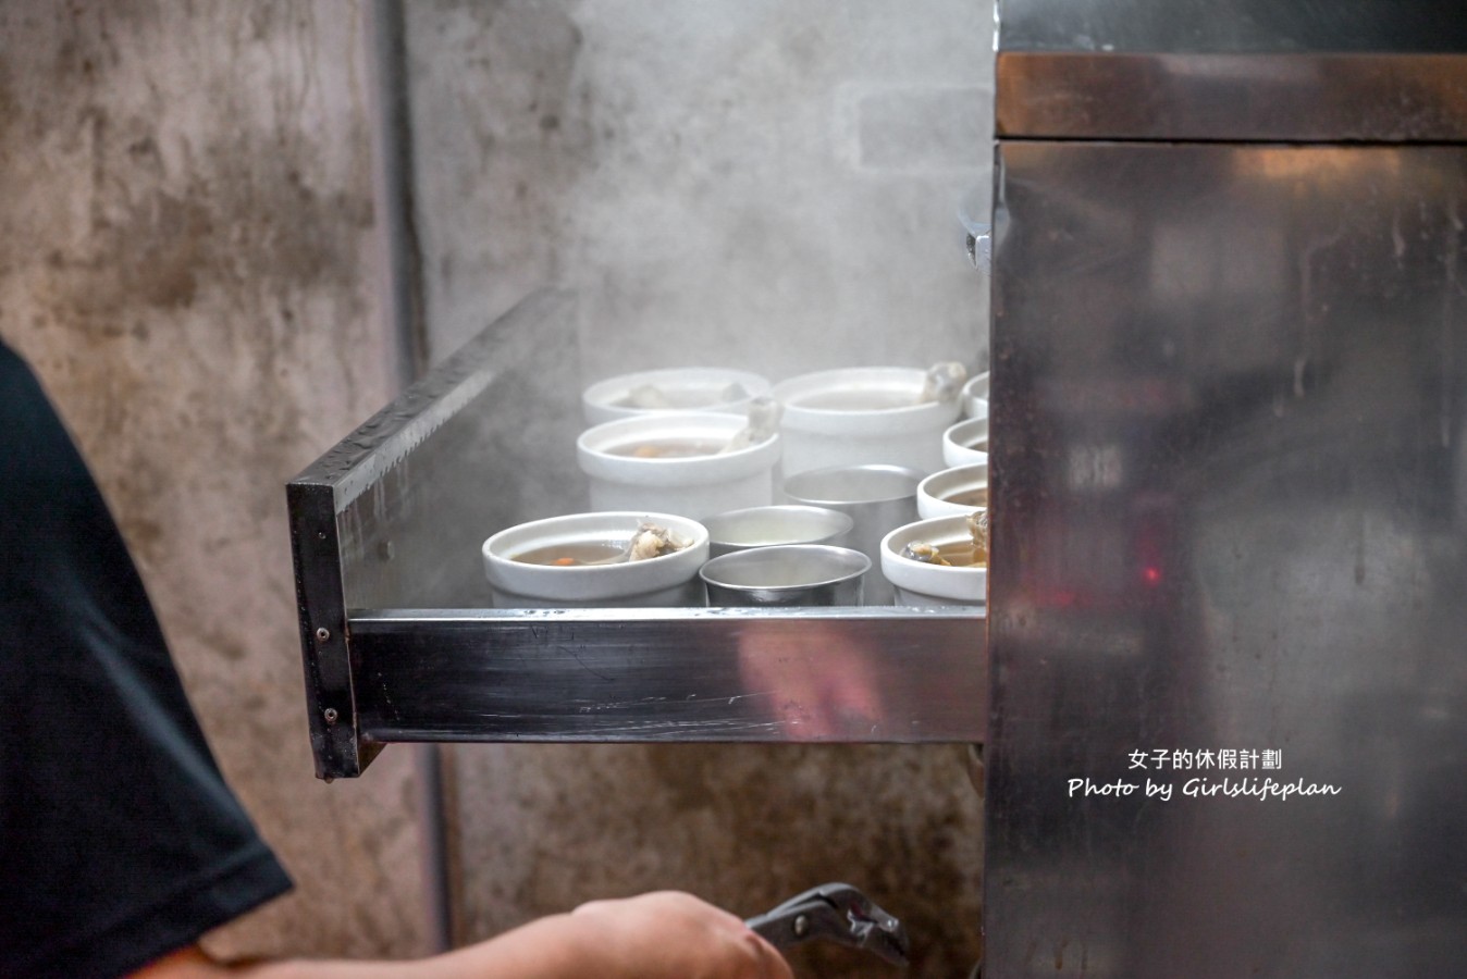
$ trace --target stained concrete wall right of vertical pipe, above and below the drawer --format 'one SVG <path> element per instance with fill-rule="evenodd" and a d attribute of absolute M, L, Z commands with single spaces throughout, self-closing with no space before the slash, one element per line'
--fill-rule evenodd
<path fill-rule="evenodd" d="M 989 183 L 990 3 L 449 1 L 409 4 L 406 37 L 434 359 L 553 283 L 582 298 L 582 383 L 986 363 L 956 211 Z M 848 879 L 908 919 L 911 975 L 978 956 L 981 805 L 959 749 L 449 758 L 462 936 L 591 895 L 678 887 L 756 913 Z M 800 963 L 890 975 L 839 950 Z"/>

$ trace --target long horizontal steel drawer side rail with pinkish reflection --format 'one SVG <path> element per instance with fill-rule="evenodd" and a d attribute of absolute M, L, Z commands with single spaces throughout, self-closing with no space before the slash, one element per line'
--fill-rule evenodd
<path fill-rule="evenodd" d="M 970 742 L 983 620 L 910 610 L 362 613 L 376 742 Z"/>

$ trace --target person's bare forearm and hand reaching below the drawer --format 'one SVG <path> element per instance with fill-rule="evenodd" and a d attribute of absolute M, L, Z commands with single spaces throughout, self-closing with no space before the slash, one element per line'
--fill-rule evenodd
<path fill-rule="evenodd" d="M 132 979 L 794 979 L 742 920 L 691 894 L 591 901 L 497 938 L 414 961 L 217 963 L 198 947 Z"/>

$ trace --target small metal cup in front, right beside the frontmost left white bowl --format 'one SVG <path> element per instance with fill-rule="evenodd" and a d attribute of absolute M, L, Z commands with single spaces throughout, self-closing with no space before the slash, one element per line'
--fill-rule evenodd
<path fill-rule="evenodd" d="M 829 544 L 785 544 L 734 551 L 698 572 L 710 607 L 860 605 L 871 558 Z"/>

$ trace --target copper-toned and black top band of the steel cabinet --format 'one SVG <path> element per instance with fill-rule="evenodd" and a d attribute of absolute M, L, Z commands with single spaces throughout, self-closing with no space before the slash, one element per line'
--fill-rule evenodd
<path fill-rule="evenodd" d="M 1449 141 L 1467 18 L 1441 0 L 1008 0 L 999 136 Z"/>

